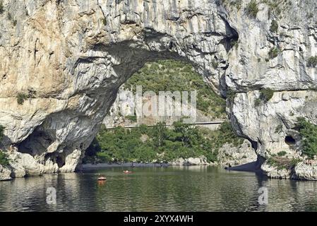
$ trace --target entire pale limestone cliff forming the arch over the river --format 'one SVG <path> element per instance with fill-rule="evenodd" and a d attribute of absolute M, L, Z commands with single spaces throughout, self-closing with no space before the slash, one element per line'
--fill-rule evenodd
<path fill-rule="evenodd" d="M 316 68 L 306 64 L 317 54 L 316 1 L 283 3 L 280 16 L 259 3 L 256 18 L 247 4 L 238 10 L 217 0 L 3 0 L 4 145 L 32 157 L 32 167 L 18 163 L 25 174 L 72 172 L 120 85 L 145 61 L 173 58 L 191 62 L 217 93 L 232 90 L 230 119 L 258 155 L 289 148 L 286 136 L 297 141 L 296 117 L 317 124 L 310 90 Z M 273 19 L 278 32 L 270 32 Z M 280 52 L 270 59 L 273 47 Z M 276 92 L 256 107 L 261 88 Z"/>

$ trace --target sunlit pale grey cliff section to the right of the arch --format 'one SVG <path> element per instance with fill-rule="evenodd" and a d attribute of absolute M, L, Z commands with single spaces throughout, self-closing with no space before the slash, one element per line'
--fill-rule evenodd
<path fill-rule="evenodd" d="M 229 24 L 239 33 L 239 41 L 229 53 L 226 85 L 234 99 L 229 105 L 232 124 L 241 136 L 257 143 L 258 154 L 264 157 L 282 150 L 299 148 L 294 130 L 298 117 L 317 124 L 316 67 L 308 66 L 309 57 L 317 55 L 316 1 L 287 1 L 270 8 L 258 4 L 256 18 L 242 10 L 229 9 Z M 249 18 L 249 19 L 248 19 Z M 277 21 L 277 30 L 271 28 Z M 277 57 L 270 50 L 277 49 Z M 261 88 L 275 93 L 268 102 L 261 102 Z M 296 141 L 289 145 L 287 137 Z M 297 153 L 293 153 L 294 156 Z"/>

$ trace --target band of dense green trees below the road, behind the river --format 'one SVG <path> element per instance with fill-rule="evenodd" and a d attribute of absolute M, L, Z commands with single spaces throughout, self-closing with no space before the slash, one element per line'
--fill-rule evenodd
<path fill-rule="evenodd" d="M 207 157 L 217 161 L 219 148 L 225 143 L 241 145 L 229 123 L 219 130 L 210 131 L 181 121 L 174 122 L 172 129 L 165 124 L 141 125 L 138 128 L 116 127 L 107 130 L 103 126 L 95 141 L 86 150 L 84 162 L 170 162 L 179 157 Z"/>

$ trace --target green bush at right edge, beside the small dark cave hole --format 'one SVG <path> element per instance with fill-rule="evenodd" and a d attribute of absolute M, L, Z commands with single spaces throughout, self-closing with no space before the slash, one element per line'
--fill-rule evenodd
<path fill-rule="evenodd" d="M 303 154 L 313 159 L 314 155 L 317 155 L 317 126 L 299 118 L 297 128 L 302 139 Z"/>

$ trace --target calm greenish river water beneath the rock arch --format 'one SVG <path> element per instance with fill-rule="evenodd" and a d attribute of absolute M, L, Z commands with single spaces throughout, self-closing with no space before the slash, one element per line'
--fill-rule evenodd
<path fill-rule="evenodd" d="M 317 182 L 266 179 L 217 167 L 86 169 L 0 182 L 0 211 L 316 211 Z M 97 182 L 98 174 L 107 182 Z M 258 189 L 268 188 L 268 205 Z M 47 188 L 56 204 L 46 203 Z"/>

